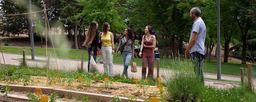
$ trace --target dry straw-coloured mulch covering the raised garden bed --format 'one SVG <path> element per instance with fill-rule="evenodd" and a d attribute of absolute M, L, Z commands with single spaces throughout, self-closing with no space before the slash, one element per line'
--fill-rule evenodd
<path fill-rule="evenodd" d="M 31 76 L 31 79 L 34 80 L 35 82 L 28 83 L 28 86 L 40 86 L 40 87 L 47 87 L 47 79 L 46 77 L 38 77 L 38 76 Z M 51 80 L 51 79 L 49 79 Z M 48 81 L 49 81 L 48 80 Z M 58 79 L 55 79 L 58 80 Z M 9 82 L 7 80 L 1 80 L 1 84 L 15 84 L 15 85 L 23 85 L 24 83 L 22 82 Z M 89 92 L 89 93 L 98 93 L 98 94 L 106 94 L 106 95 L 112 95 L 112 96 L 121 96 L 121 97 L 129 97 L 133 96 L 136 99 L 144 99 L 144 98 L 149 98 L 152 94 L 158 94 L 159 89 L 157 86 L 149 86 L 148 90 L 143 92 L 143 89 L 141 87 L 136 87 L 135 84 L 126 84 L 126 83 L 121 83 L 121 82 L 112 82 L 111 85 L 109 85 L 112 89 L 105 88 L 103 86 L 102 89 L 100 87 L 102 84 L 105 84 L 105 81 L 98 81 L 98 80 L 91 80 L 90 86 L 83 86 L 83 87 L 78 87 L 80 86 L 80 83 L 77 82 L 77 80 L 72 81 L 72 85 L 68 86 L 68 82 L 56 82 L 53 84 L 49 84 L 48 87 L 54 87 L 57 89 L 66 89 L 66 90 L 75 90 L 75 91 L 83 91 L 83 92 Z M 137 93 L 140 93 L 140 95 L 137 95 Z M 160 96 L 158 96 L 160 97 Z"/>

